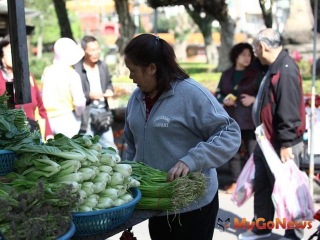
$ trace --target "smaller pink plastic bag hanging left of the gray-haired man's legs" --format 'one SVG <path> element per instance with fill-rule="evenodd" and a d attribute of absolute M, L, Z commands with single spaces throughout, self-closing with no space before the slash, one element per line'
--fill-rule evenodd
<path fill-rule="evenodd" d="M 234 201 L 237 206 L 241 206 L 252 195 L 254 171 L 255 167 L 252 153 L 243 166 L 231 195 L 231 200 Z"/>

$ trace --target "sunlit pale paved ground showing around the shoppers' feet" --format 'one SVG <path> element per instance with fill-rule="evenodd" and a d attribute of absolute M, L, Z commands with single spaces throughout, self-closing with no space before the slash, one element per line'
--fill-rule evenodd
<path fill-rule="evenodd" d="M 314 204 L 315 210 L 320 208 L 319 203 Z M 251 197 L 245 204 L 241 207 L 237 207 L 231 200 L 230 195 L 226 194 L 224 190 L 219 190 L 219 211 L 217 217 L 221 219 L 233 219 L 233 217 L 238 217 L 239 219 L 242 217 L 246 217 L 249 221 L 253 217 L 253 197 Z M 233 221 L 231 221 L 233 223 Z M 318 221 L 312 222 L 312 228 L 304 230 L 304 240 L 307 240 L 308 237 L 316 230 L 316 227 L 319 225 Z M 143 221 L 133 227 L 134 236 L 137 240 L 150 240 L 150 236 L 148 233 L 148 222 Z M 231 225 L 232 227 L 232 225 Z M 229 228 L 227 232 L 219 231 L 218 226 L 215 226 L 213 238 L 214 240 L 236 240 L 237 235 L 244 230 L 234 230 L 233 228 Z M 280 238 L 284 234 L 283 229 L 274 229 L 272 231 L 272 235 L 267 239 L 276 240 Z M 121 236 L 121 233 L 118 233 L 108 240 L 118 240 Z M 260 238 L 261 240 L 266 238 Z M 198 239 L 195 239 L 198 240 Z"/>

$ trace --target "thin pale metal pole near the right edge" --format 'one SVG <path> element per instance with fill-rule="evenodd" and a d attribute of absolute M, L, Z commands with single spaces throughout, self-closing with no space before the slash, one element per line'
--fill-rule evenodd
<path fill-rule="evenodd" d="M 310 122 L 310 161 L 309 161 L 309 184 L 310 193 L 313 197 L 313 178 L 314 178 L 314 111 L 315 111 L 315 67 L 316 67 L 316 30 L 317 30 L 317 15 L 318 1 L 314 0 L 314 26 L 313 26 L 313 63 L 312 63 L 312 87 L 311 87 L 311 122 Z"/>

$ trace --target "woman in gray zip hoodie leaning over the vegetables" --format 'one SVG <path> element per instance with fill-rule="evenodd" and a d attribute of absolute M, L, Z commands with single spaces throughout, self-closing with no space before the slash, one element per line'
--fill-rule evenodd
<path fill-rule="evenodd" d="M 137 84 L 125 114 L 126 160 L 167 171 L 168 181 L 196 170 L 207 176 L 205 196 L 180 209 L 179 219 L 173 213 L 167 219 L 166 212 L 149 219 L 150 236 L 212 239 L 218 210 L 215 168 L 238 150 L 239 126 L 210 91 L 189 78 L 165 40 L 138 35 L 124 54 Z"/>

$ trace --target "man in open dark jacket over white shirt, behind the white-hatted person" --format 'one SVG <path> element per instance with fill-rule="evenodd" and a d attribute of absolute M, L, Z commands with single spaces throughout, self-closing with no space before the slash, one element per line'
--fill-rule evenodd
<path fill-rule="evenodd" d="M 74 69 L 80 75 L 86 98 L 79 133 L 99 135 L 99 143 L 116 149 L 111 125 L 105 124 L 105 128 L 97 129 L 94 124 L 91 124 L 93 115 L 103 114 L 109 110 L 107 97 L 113 95 L 111 75 L 106 63 L 99 60 L 101 50 L 96 38 L 84 36 L 81 46 L 84 50 L 84 57 L 74 65 Z"/>

